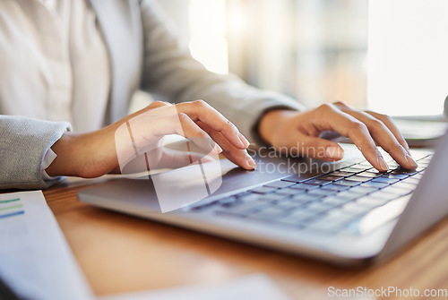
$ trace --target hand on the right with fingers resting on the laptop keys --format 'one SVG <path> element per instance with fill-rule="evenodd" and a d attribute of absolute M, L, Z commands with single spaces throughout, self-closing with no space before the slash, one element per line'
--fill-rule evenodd
<path fill-rule="evenodd" d="M 291 154 L 327 161 L 342 159 L 344 151 L 337 143 L 319 138 L 324 131 L 334 131 L 349 137 L 379 171 L 385 172 L 388 167 L 375 141 L 401 167 L 417 167 L 410 156 L 408 143 L 391 117 L 360 111 L 341 102 L 324 104 L 305 112 L 273 110 L 264 115 L 258 125 L 263 140 L 278 150 L 287 148 L 297 152 Z"/>

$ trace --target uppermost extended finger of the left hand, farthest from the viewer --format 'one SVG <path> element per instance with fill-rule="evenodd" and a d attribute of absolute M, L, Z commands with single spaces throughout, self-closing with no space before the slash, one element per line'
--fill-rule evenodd
<path fill-rule="evenodd" d="M 239 149 L 246 149 L 249 141 L 239 133 L 237 126 L 228 121 L 216 109 L 202 100 L 177 104 L 179 113 L 190 116 L 194 122 L 201 121 L 207 124 L 214 131 L 220 132 L 232 145 Z"/>

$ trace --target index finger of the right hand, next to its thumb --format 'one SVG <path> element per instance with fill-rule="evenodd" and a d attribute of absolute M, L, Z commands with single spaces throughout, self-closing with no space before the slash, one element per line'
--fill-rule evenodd
<path fill-rule="evenodd" d="M 381 172 L 387 171 L 388 167 L 366 124 L 331 104 L 324 104 L 315 113 L 318 114 L 315 122 L 320 131 L 333 130 L 349 137 L 372 166 Z"/>

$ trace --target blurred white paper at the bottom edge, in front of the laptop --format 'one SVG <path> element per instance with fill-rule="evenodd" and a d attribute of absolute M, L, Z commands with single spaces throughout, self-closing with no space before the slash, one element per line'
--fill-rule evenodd
<path fill-rule="evenodd" d="M 269 277 L 247 275 L 220 285 L 173 287 L 156 291 L 102 296 L 99 300 L 288 300 Z"/>

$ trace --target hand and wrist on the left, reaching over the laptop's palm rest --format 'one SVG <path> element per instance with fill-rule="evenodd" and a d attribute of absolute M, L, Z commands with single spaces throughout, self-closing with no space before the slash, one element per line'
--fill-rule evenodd
<path fill-rule="evenodd" d="M 129 134 L 121 134 L 128 125 L 132 127 L 134 142 L 129 142 Z M 222 150 L 228 159 L 246 169 L 256 166 L 246 152 L 249 142 L 237 127 L 207 103 L 197 100 L 175 106 L 156 101 L 98 131 L 64 133 L 52 147 L 57 157 L 46 171 L 49 176 L 102 176 L 122 167 L 117 152 L 136 151 L 139 154 L 150 151 L 151 166 L 168 162 L 166 167 L 172 167 L 176 161 L 185 159 L 178 152 L 159 148 L 168 134 L 182 135 L 207 152 L 213 148 Z M 220 147 L 215 147 L 213 141 Z"/>

